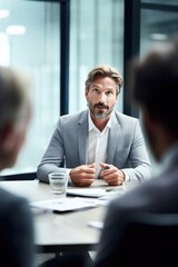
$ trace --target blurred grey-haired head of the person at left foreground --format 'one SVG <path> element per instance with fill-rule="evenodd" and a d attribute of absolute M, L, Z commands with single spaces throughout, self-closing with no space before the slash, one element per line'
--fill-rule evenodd
<path fill-rule="evenodd" d="M 20 70 L 0 67 L 0 170 L 16 164 L 30 120 L 29 79 Z"/>

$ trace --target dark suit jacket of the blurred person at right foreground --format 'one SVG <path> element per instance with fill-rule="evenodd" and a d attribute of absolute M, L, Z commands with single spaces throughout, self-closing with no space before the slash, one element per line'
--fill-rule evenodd
<path fill-rule="evenodd" d="M 131 221 L 132 215 L 141 211 L 178 212 L 178 152 L 162 175 L 152 177 L 110 202 L 93 267 L 119 266 L 121 255 L 119 257 L 117 248 L 120 245 L 121 234 L 126 224 Z M 139 251 L 138 257 L 140 257 Z"/>

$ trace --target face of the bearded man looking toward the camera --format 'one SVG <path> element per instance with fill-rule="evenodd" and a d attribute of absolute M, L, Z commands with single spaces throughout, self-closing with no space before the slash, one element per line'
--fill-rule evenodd
<path fill-rule="evenodd" d="M 92 117 L 107 118 L 118 99 L 116 81 L 110 77 L 96 77 L 89 90 L 86 90 L 86 99 Z"/>

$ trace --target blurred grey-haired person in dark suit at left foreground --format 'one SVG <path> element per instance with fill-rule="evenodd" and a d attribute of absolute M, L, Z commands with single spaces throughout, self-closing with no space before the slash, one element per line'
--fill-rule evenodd
<path fill-rule="evenodd" d="M 0 67 L 0 171 L 14 165 L 30 119 L 27 79 Z M 0 266 L 32 267 L 33 221 L 27 199 L 0 188 Z"/>

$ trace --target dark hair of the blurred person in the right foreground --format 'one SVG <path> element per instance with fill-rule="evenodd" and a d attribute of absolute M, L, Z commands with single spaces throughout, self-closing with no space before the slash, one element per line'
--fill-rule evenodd
<path fill-rule="evenodd" d="M 178 132 L 178 40 L 132 63 L 132 97 L 168 129 Z"/>

